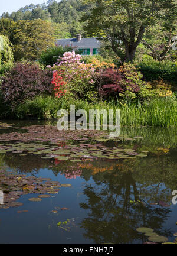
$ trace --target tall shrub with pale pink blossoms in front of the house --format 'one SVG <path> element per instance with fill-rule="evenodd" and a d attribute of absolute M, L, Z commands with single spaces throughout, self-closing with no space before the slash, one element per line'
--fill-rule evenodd
<path fill-rule="evenodd" d="M 97 98 L 94 86 L 94 67 L 92 64 L 81 62 L 81 55 L 75 52 L 65 52 L 58 57 L 58 62 L 52 67 L 54 75 L 60 73 L 65 82 L 64 97 L 66 99 L 87 99 L 93 101 Z"/>

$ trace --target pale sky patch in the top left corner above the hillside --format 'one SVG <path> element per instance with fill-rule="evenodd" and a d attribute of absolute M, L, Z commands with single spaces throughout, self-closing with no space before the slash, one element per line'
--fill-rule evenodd
<path fill-rule="evenodd" d="M 25 7 L 25 5 L 37 5 L 44 2 L 47 2 L 47 0 L 0 0 L 0 16 L 3 12 L 11 14 L 13 11 L 18 11 L 19 8 Z"/>

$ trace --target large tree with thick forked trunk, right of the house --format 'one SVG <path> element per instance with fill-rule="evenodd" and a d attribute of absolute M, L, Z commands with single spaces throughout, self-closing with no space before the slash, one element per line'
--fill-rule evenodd
<path fill-rule="evenodd" d="M 90 0 L 85 0 L 90 2 Z M 120 42 L 125 47 L 125 60 L 133 61 L 137 46 L 148 27 L 159 20 L 166 20 L 166 13 L 173 10 L 176 18 L 176 0 L 94 0 L 96 7 L 83 15 L 86 30 L 92 34 L 102 32 L 118 55 Z"/>

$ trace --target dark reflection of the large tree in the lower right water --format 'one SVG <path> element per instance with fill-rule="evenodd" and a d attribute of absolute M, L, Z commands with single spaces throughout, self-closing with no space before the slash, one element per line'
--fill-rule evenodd
<path fill-rule="evenodd" d="M 81 223 L 85 229 L 84 237 L 96 244 L 132 244 L 137 239 L 144 242 L 145 236 L 136 231 L 139 226 L 148 226 L 159 235 L 171 236 L 171 232 L 162 231 L 171 210 L 143 202 L 131 171 L 119 172 L 117 176 L 104 174 L 102 179 L 95 181 L 95 185 L 90 184 L 84 189 L 87 202 L 80 204 L 81 208 L 89 210 L 88 217 Z"/>

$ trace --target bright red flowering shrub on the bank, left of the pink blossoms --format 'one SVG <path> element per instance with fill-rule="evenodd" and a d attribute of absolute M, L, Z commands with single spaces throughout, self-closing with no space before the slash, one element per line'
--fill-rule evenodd
<path fill-rule="evenodd" d="M 60 76 L 60 72 L 55 71 L 53 73 L 53 80 L 51 82 L 54 85 L 55 97 L 61 98 L 66 90 L 65 90 L 65 82 L 63 77 Z"/>

